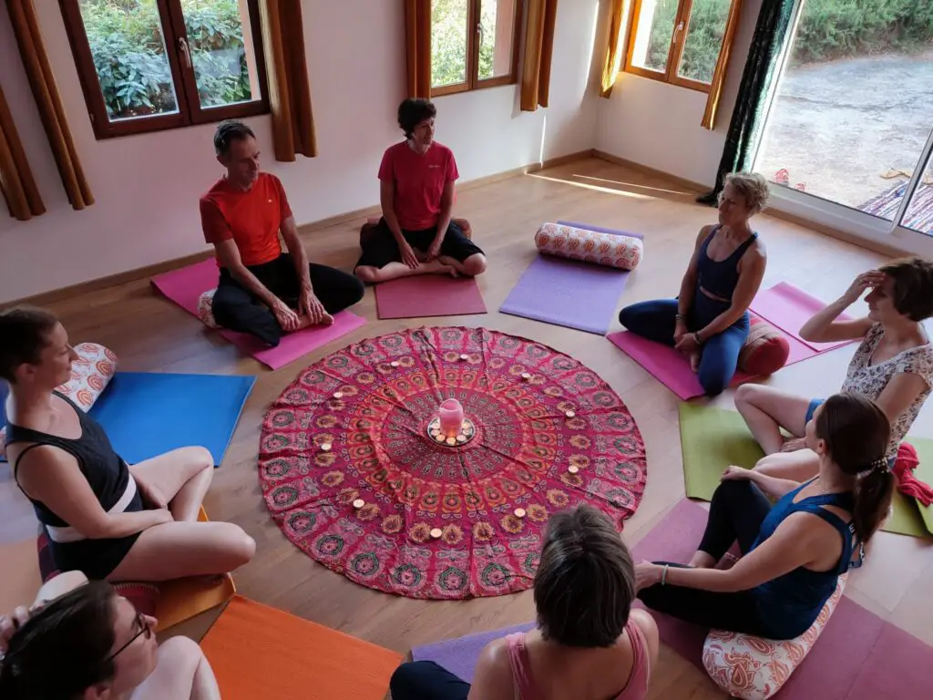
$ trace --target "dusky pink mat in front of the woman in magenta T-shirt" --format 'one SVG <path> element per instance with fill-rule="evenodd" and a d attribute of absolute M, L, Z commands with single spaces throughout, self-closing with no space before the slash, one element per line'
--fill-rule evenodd
<path fill-rule="evenodd" d="M 486 302 L 474 277 L 419 274 L 376 285 L 376 313 L 380 318 L 485 314 Z"/>

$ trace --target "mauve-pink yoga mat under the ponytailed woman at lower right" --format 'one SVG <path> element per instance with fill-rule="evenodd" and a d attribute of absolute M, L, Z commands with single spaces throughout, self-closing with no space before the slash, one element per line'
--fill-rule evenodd
<path fill-rule="evenodd" d="M 686 562 L 696 550 L 707 512 L 680 501 L 634 546 L 635 562 Z M 661 640 L 703 670 L 706 630 L 652 612 Z M 842 596 L 829 623 L 801 665 L 776 695 L 781 700 L 918 700 L 929 694 L 933 647 L 885 623 Z"/>

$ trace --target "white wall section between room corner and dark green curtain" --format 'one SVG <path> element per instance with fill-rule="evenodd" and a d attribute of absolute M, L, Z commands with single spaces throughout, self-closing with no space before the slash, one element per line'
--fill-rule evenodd
<path fill-rule="evenodd" d="M 612 96 L 600 101 L 596 148 L 712 186 L 760 8 L 761 0 L 743 3 L 715 131 L 700 126 L 706 106 L 704 92 L 623 73 Z"/>

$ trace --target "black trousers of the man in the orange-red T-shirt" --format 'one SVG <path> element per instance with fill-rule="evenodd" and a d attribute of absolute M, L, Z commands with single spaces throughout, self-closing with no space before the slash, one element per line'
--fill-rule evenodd
<path fill-rule="evenodd" d="M 246 268 L 276 297 L 293 309 L 298 308 L 301 282 L 295 263 L 288 253 L 271 262 L 249 265 Z M 363 298 L 363 283 L 352 274 L 341 273 L 332 267 L 308 265 L 311 286 L 328 314 L 336 314 L 353 306 Z M 233 279 L 226 270 L 220 270 L 220 282 L 214 295 L 214 320 L 225 329 L 239 330 L 255 335 L 263 343 L 278 345 L 285 332 L 268 306 Z"/>

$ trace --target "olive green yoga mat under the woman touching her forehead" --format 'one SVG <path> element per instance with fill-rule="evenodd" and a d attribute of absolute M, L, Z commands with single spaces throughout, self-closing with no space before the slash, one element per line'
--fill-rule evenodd
<path fill-rule="evenodd" d="M 920 455 L 917 478 L 933 483 L 933 440 L 911 438 Z M 709 500 L 719 477 L 734 464 L 751 469 L 764 456 L 739 413 L 680 404 L 680 445 L 684 454 L 684 483 L 687 496 Z M 896 493 L 894 513 L 884 525 L 888 532 L 915 538 L 933 532 L 933 508 L 918 507 L 912 498 Z"/>

